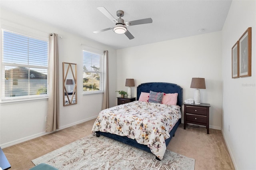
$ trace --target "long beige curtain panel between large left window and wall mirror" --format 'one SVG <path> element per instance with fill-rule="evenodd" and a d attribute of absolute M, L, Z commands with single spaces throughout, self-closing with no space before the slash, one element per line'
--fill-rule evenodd
<path fill-rule="evenodd" d="M 48 60 L 48 114 L 46 132 L 59 129 L 59 59 L 57 34 L 49 35 L 49 60 Z"/>

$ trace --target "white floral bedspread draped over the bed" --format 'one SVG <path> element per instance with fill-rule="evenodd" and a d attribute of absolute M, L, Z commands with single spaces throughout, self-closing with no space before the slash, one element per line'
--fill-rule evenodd
<path fill-rule="evenodd" d="M 147 145 L 162 160 L 169 132 L 181 118 L 179 106 L 134 101 L 101 111 L 92 133 L 109 132 Z"/>

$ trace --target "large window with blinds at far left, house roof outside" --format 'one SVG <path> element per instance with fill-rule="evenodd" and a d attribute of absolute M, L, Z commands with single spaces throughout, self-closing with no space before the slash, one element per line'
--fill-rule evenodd
<path fill-rule="evenodd" d="M 2 30 L 2 101 L 47 96 L 48 41 Z"/>

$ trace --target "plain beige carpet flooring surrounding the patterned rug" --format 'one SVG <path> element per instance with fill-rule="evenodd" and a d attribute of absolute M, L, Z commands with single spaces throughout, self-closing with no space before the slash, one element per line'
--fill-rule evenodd
<path fill-rule="evenodd" d="M 11 170 L 28 170 L 31 160 L 91 134 L 95 119 L 47 134 L 20 144 L 3 148 Z M 194 158 L 195 170 L 235 170 L 220 130 L 194 128 L 181 124 L 167 146 L 168 150 Z"/>

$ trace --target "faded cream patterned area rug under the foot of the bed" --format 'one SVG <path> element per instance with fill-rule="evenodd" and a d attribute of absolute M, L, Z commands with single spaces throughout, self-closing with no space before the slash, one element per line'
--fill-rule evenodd
<path fill-rule="evenodd" d="M 32 160 L 60 170 L 194 170 L 195 160 L 166 150 L 158 161 L 154 154 L 105 136 L 86 136 Z"/>

